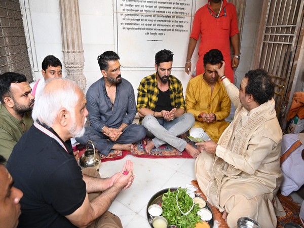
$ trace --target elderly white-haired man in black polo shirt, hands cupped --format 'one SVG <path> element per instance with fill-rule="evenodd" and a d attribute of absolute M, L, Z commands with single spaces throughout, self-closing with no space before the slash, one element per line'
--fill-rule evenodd
<path fill-rule="evenodd" d="M 110 178 L 92 177 L 98 176 L 94 168 L 82 173 L 66 141 L 83 134 L 87 115 L 85 95 L 76 84 L 46 82 L 33 109 L 35 123 L 7 165 L 24 194 L 19 227 L 122 227 L 107 209 L 132 184 L 133 163 L 128 160 L 125 172 Z"/>

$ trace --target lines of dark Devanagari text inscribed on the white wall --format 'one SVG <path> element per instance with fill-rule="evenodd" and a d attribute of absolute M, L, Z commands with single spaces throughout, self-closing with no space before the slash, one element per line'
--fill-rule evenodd
<path fill-rule="evenodd" d="M 122 29 L 142 30 L 153 36 L 189 32 L 192 4 L 186 1 L 122 0 L 120 7 Z"/>

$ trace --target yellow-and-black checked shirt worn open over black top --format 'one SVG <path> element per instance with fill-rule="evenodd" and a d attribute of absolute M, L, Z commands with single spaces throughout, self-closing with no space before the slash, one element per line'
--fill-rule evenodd
<path fill-rule="evenodd" d="M 159 95 L 156 73 L 142 79 L 137 91 L 137 111 L 142 107 L 154 110 Z M 181 82 L 173 75 L 169 76 L 169 92 L 172 108 L 186 110 Z M 139 119 L 139 124 L 141 124 L 142 119 Z"/>

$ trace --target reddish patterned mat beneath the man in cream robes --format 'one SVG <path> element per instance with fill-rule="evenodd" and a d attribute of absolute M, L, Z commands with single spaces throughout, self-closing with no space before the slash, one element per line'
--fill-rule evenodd
<path fill-rule="evenodd" d="M 201 197 L 203 197 L 206 200 L 205 195 L 202 193 L 197 180 L 193 180 L 192 184 L 196 186 L 199 191 L 196 192 L 199 194 Z M 283 228 L 284 224 L 287 222 L 293 222 L 295 224 L 301 225 L 301 220 L 299 218 L 299 213 L 300 213 L 300 206 L 294 202 L 291 198 L 291 196 L 285 197 L 281 193 L 278 193 L 277 195 L 280 199 L 281 204 L 284 207 L 284 210 L 286 212 L 285 216 L 282 217 L 277 217 L 278 223 L 277 223 L 277 228 Z M 229 228 L 227 226 L 227 223 L 224 221 L 222 218 L 222 213 L 219 212 L 219 210 L 212 205 L 210 205 L 213 215 L 214 215 L 214 220 L 217 220 L 219 222 L 218 227 L 219 228 Z M 264 227 L 263 227 L 264 228 Z M 267 227 L 265 227 L 267 228 Z"/>

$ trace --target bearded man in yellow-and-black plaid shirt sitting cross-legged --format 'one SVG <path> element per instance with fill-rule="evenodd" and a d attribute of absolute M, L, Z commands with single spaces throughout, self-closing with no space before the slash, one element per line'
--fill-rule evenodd
<path fill-rule="evenodd" d="M 137 112 L 147 136 L 154 137 L 145 146 L 147 154 L 153 147 L 168 143 L 179 151 L 184 149 L 193 158 L 200 151 L 177 136 L 188 131 L 195 122 L 192 113 L 185 113 L 181 82 L 171 75 L 173 53 L 162 50 L 155 55 L 156 73 L 141 80 L 137 95 Z"/>

